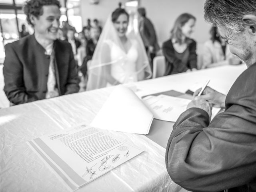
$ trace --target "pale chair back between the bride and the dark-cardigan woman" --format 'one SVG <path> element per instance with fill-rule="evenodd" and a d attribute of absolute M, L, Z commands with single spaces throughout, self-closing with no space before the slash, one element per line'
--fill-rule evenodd
<path fill-rule="evenodd" d="M 166 71 L 166 63 L 164 56 L 156 56 L 153 59 L 153 74 L 152 78 L 164 76 Z"/>

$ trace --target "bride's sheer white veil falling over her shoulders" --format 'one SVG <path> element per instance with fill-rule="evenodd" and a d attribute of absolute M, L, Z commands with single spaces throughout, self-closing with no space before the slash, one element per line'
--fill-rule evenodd
<path fill-rule="evenodd" d="M 134 14 L 129 17 L 128 29 L 126 36 L 130 42 L 135 43 L 138 51 L 138 58 L 136 60 L 136 72 L 134 72 L 137 80 L 148 79 L 152 76 L 152 71 L 144 48 L 144 44 L 138 32 L 136 25 L 137 20 L 134 19 Z M 111 73 L 111 67 L 114 65 L 120 65 L 126 60 L 126 53 L 118 52 L 118 57 L 113 60 L 111 58 L 111 46 L 117 45 L 119 48 L 124 50 L 121 40 L 114 28 L 111 20 L 111 15 L 108 16 L 107 22 L 103 28 L 102 34 L 96 45 L 92 60 L 88 61 L 88 82 L 86 90 L 93 90 L 97 88 L 103 88 L 109 85 L 107 76 Z M 120 55 L 119 55 L 120 54 Z M 119 80 L 117 79 L 117 84 Z"/>

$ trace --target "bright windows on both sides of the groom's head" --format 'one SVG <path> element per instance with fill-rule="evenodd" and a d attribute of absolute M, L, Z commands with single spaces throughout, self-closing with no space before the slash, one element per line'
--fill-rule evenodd
<path fill-rule="evenodd" d="M 20 38 L 22 24 L 29 34 L 34 32 L 22 11 L 25 2 L 26 0 L 0 0 L 0 64 L 5 58 L 4 45 Z M 60 23 L 68 19 L 69 24 L 74 26 L 77 32 L 82 31 L 80 0 L 60 0 L 60 3 L 62 5 Z"/>

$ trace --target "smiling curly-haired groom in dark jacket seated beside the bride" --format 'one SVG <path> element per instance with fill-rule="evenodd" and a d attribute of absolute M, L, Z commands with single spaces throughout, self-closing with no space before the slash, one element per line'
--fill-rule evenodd
<path fill-rule="evenodd" d="M 60 2 L 29 0 L 24 13 L 34 34 L 5 46 L 4 92 L 10 104 L 78 92 L 78 68 L 72 47 L 57 40 Z"/>

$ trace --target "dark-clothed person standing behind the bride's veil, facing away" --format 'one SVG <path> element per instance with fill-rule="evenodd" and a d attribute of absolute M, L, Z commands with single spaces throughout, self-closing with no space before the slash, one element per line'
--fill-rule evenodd
<path fill-rule="evenodd" d="M 156 56 L 158 50 L 160 50 L 156 38 L 156 31 L 152 22 L 146 17 L 145 8 L 138 8 L 138 16 L 140 36 L 146 48 L 146 52 L 150 55 L 150 62 L 152 68 L 152 61 Z"/>

